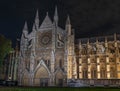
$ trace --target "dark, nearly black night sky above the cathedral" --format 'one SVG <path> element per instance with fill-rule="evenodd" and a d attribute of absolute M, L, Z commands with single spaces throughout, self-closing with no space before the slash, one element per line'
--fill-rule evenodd
<path fill-rule="evenodd" d="M 40 24 L 47 11 L 53 20 L 55 5 L 59 26 L 65 27 L 69 14 L 76 38 L 120 33 L 120 0 L 0 0 L 0 34 L 15 42 L 25 20 L 31 31 L 37 9 Z"/>

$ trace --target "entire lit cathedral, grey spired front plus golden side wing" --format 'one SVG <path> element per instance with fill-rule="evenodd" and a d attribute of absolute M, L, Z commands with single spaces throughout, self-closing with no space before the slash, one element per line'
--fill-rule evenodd
<path fill-rule="evenodd" d="M 47 13 L 40 26 L 37 11 L 31 33 L 25 22 L 18 64 L 20 86 L 66 86 L 69 79 L 90 84 L 96 79 L 120 79 L 119 35 L 75 39 L 69 16 L 65 29 L 58 21 L 56 8 L 53 22 Z"/>

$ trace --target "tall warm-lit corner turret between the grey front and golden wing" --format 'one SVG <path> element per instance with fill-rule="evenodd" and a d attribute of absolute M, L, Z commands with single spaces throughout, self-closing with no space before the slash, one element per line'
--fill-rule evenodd
<path fill-rule="evenodd" d="M 74 46 L 74 29 L 71 29 L 71 23 L 69 16 L 66 20 L 66 33 L 67 33 L 67 41 L 66 41 L 66 50 L 67 50 L 67 78 L 76 78 L 76 62 L 75 62 L 75 46 Z"/>

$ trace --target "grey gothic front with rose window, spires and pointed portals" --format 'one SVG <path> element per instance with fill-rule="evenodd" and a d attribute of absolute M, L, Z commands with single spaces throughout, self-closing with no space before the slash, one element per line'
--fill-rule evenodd
<path fill-rule="evenodd" d="M 46 14 L 39 26 L 36 13 L 32 32 L 28 33 L 25 22 L 20 42 L 19 85 L 23 86 L 65 86 L 71 78 L 75 60 L 74 31 L 69 16 L 65 30 L 58 26 L 58 13 L 55 9 L 54 21 Z M 69 61 L 68 61 L 69 60 Z"/>

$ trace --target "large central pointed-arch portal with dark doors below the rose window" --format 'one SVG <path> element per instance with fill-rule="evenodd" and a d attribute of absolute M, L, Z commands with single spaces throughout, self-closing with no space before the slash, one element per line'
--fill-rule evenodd
<path fill-rule="evenodd" d="M 44 66 L 38 68 L 34 76 L 35 86 L 48 86 L 49 85 L 49 73 Z"/>

